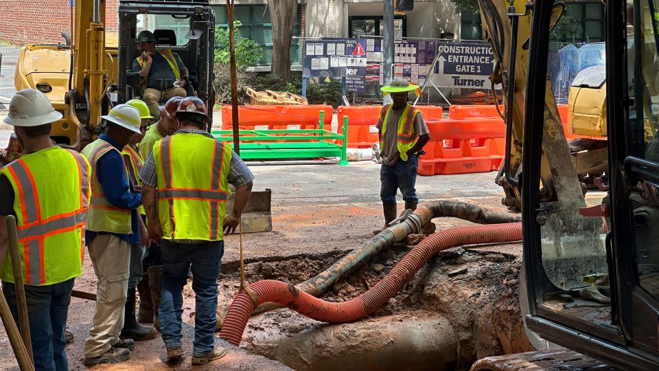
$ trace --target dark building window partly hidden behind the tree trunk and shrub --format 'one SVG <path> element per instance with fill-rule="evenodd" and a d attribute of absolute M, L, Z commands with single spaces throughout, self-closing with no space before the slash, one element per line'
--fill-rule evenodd
<path fill-rule="evenodd" d="M 220 27 L 229 28 L 229 16 L 226 5 L 213 5 L 215 12 L 215 23 Z M 270 21 L 270 10 L 266 5 L 235 5 L 233 18 L 240 21 L 242 25 L 238 34 L 250 38 L 263 48 L 263 58 L 257 65 L 269 66 L 273 61 L 273 23 Z M 301 63 L 300 49 L 300 9 L 297 10 L 297 20 L 293 25 L 293 39 L 290 44 L 290 63 L 299 65 Z"/>

